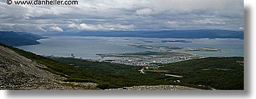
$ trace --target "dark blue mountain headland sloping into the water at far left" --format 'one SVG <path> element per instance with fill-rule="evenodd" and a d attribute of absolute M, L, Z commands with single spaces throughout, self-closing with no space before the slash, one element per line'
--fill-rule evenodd
<path fill-rule="evenodd" d="M 15 32 L 15 31 L 0 31 L 0 43 L 11 46 L 23 46 L 23 45 L 36 45 L 38 39 L 43 37 L 32 33 Z"/>

